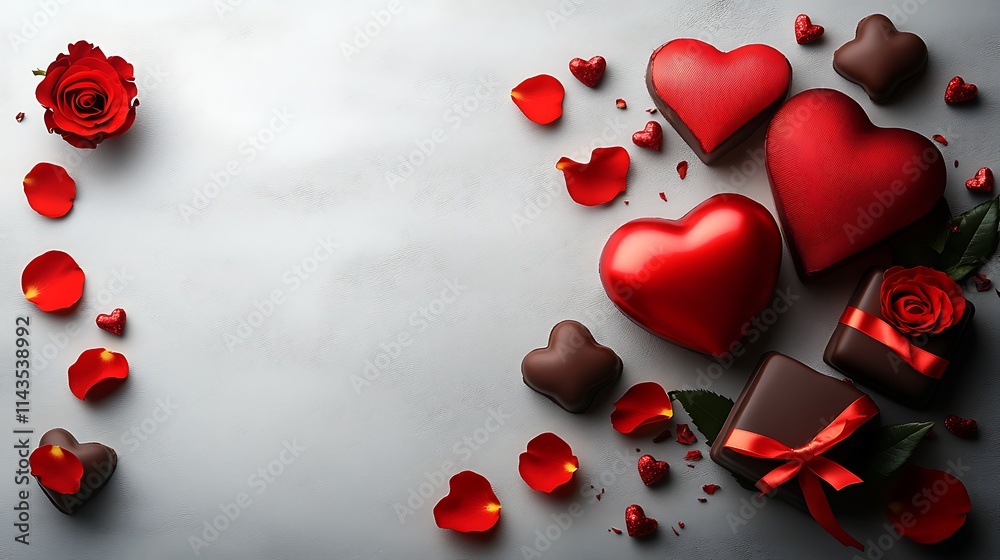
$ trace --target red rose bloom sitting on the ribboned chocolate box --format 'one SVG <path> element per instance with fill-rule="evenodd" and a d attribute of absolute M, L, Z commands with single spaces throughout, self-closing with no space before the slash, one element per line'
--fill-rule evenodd
<path fill-rule="evenodd" d="M 925 266 L 885 271 L 880 296 L 882 316 L 904 334 L 938 334 L 965 314 L 962 288 L 947 274 Z"/>

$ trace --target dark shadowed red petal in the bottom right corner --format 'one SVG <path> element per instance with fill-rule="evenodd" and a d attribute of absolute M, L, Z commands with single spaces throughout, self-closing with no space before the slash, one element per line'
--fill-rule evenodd
<path fill-rule="evenodd" d="M 907 465 L 889 496 L 887 513 L 899 534 L 920 544 L 933 544 L 955 534 L 971 510 L 969 492 L 958 478 Z"/>

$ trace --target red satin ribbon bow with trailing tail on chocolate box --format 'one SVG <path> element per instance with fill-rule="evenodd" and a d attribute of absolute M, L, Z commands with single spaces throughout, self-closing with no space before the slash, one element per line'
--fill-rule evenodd
<path fill-rule="evenodd" d="M 766 494 L 798 477 L 799 486 L 806 499 L 806 507 L 820 526 L 841 544 L 864 550 L 864 545 L 847 534 L 847 531 L 837 523 L 837 518 L 834 517 L 830 503 L 823 492 L 823 486 L 820 484 L 822 479 L 835 490 L 841 490 L 863 481 L 856 474 L 822 455 L 847 439 L 876 414 L 878 407 L 868 395 L 862 395 L 816 434 L 812 441 L 802 447 L 792 449 L 775 439 L 740 429 L 735 429 L 729 434 L 725 447 L 750 457 L 787 461 L 757 481 L 757 488 L 761 494 Z"/>

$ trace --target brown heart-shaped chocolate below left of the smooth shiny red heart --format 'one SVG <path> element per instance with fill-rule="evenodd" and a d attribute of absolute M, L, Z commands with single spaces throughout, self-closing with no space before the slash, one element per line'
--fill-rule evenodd
<path fill-rule="evenodd" d="M 622 360 L 601 346 L 587 327 L 563 321 L 552 327 L 549 344 L 521 361 L 524 384 L 576 414 L 586 412 L 598 393 L 622 375 Z"/>

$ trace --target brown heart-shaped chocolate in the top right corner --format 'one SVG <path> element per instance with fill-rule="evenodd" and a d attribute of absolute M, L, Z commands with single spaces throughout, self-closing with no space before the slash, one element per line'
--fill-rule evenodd
<path fill-rule="evenodd" d="M 888 103 L 926 66 L 924 40 L 898 31 L 882 14 L 861 20 L 854 39 L 833 53 L 834 70 L 864 88 L 875 103 Z"/>

